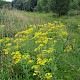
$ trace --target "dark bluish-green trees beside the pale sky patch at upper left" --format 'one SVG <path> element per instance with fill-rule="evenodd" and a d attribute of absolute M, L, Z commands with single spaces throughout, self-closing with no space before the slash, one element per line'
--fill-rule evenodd
<path fill-rule="evenodd" d="M 37 0 L 13 0 L 12 6 L 14 8 L 26 11 L 34 11 L 34 7 L 37 5 Z"/>

